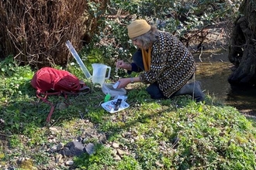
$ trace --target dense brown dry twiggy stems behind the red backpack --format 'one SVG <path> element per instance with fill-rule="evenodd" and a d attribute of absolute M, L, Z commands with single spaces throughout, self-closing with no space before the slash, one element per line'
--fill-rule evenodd
<path fill-rule="evenodd" d="M 106 1 L 94 0 L 105 8 Z M 36 0 L 0 2 L 0 58 L 12 54 L 20 63 L 31 66 L 63 65 L 71 40 L 76 49 L 81 39 L 95 31 L 96 21 L 88 14 L 85 0 Z"/>

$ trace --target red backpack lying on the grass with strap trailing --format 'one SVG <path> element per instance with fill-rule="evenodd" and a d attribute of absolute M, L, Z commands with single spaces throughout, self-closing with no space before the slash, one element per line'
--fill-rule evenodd
<path fill-rule="evenodd" d="M 50 113 L 47 117 L 47 122 L 50 122 L 50 117 L 54 113 L 54 104 L 47 100 L 48 95 L 77 94 L 81 91 L 89 93 L 90 88 L 78 77 L 65 70 L 57 70 L 51 67 L 43 67 L 38 70 L 31 80 L 31 85 L 36 89 L 36 96 L 43 102 L 50 104 Z"/>

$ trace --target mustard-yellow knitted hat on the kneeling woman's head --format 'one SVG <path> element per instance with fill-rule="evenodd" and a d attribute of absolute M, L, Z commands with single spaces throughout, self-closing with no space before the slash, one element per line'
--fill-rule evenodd
<path fill-rule="evenodd" d="M 130 39 L 133 39 L 137 36 L 144 35 L 144 33 L 147 33 L 151 26 L 146 22 L 144 19 L 137 19 L 130 23 L 129 26 L 127 26 L 128 29 L 128 36 Z"/>

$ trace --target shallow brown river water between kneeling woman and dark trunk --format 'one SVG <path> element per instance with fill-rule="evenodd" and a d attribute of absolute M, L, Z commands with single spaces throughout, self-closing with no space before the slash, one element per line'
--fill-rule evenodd
<path fill-rule="evenodd" d="M 227 49 L 203 49 L 193 56 L 197 63 L 195 79 L 201 81 L 204 93 L 243 113 L 256 113 L 256 89 L 234 89 L 227 81 L 233 66 Z"/>

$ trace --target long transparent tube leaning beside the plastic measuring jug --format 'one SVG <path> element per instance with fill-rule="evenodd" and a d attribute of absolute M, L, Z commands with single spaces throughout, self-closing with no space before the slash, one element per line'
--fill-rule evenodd
<path fill-rule="evenodd" d="M 77 63 L 81 67 L 81 70 L 85 74 L 86 78 L 90 79 L 92 77 L 92 75 L 86 68 L 85 64 L 82 62 L 80 56 L 78 55 L 77 51 L 74 49 L 74 47 L 72 46 L 72 44 L 69 40 L 67 40 L 66 46 L 69 49 L 69 51 L 71 52 L 72 56 L 74 56 L 74 59 L 77 61 Z"/>

